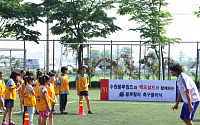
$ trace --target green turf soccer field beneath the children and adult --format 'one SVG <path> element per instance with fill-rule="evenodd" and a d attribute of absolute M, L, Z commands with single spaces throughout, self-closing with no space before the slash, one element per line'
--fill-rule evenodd
<path fill-rule="evenodd" d="M 54 125 L 184 125 L 179 118 L 180 108 L 173 111 L 171 107 L 175 103 L 168 102 L 134 102 L 134 101 L 101 101 L 100 90 L 89 90 L 91 110 L 93 115 L 78 116 L 79 102 L 76 90 L 72 88 L 68 96 L 66 110 L 68 115 L 54 115 Z M 87 105 L 84 100 L 84 110 L 87 112 Z M 59 111 L 59 105 L 56 107 Z M 16 125 L 22 124 L 22 115 L 18 113 L 19 99 L 15 101 L 13 108 L 13 121 Z M 0 114 L 1 122 L 3 114 Z M 37 125 L 38 115 L 34 115 L 34 124 Z M 8 121 L 8 116 L 7 116 Z M 194 125 L 200 123 L 200 108 L 194 117 Z"/>

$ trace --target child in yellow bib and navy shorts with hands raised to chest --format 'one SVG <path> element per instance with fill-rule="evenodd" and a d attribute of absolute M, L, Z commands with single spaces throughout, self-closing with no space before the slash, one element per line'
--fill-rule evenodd
<path fill-rule="evenodd" d="M 10 75 L 10 80 L 6 83 L 5 89 L 5 107 L 6 111 L 4 112 L 2 125 L 7 125 L 6 115 L 9 116 L 9 125 L 15 125 L 12 122 L 12 108 L 14 107 L 14 100 L 16 99 L 16 88 L 20 87 L 19 83 L 15 84 L 15 81 L 18 81 L 19 73 L 13 71 Z"/>

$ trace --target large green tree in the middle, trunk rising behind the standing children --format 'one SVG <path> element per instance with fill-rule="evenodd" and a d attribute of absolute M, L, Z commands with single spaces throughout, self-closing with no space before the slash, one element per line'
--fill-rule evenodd
<path fill-rule="evenodd" d="M 84 43 L 93 37 L 106 35 L 120 30 L 114 25 L 115 17 L 108 17 L 106 10 L 114 8 L 113 0 L 57 0 L 54 12 L 49 15 L 49 21 L 56 21 L 51 27 L 54 35 L 63 36 L 62 43 Z M 55 4 L 54 4 L 55 5 Z M 78 55 L 79 68 L 83 63 L 84 45 L 69 45 Z"/>

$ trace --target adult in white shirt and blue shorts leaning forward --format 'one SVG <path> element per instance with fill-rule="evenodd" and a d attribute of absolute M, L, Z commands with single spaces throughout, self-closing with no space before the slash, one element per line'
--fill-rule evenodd
<path fill-rule="evenodd" d="M 177 77 L 176 83 L 179 90 L 176 104 L 172 107 L 172 109 L 178 109 L 179 102 L 183 100 L 184 104 L 180 118 L 186 125 L 193 125 L 192 120 L 200 101 L 196 84 L 192 78 L 182 73 L 183 69 L 180 64 L 176 63 L 172 65 L 170 70 L 172 76 Z"/>

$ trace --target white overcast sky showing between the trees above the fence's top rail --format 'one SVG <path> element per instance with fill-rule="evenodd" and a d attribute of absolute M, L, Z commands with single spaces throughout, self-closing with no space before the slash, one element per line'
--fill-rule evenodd
<path fill-rule="evenodd" d="M 32 2 L 32 0 L 26 0 Z M 34 0 L 36 3 L 40 3 L 40 0 Z M 169 3 L 166 11 L 171 12 L 173 15 L 173 21 L 167 28 L 167 36 L 181 38 L 183 41 L 198 41 L 200 40 L 200 19 L 198 19 L 193 13 L 197 11 L 200 6 L 199 0 L 166 0 Z M 108 12 L 109 16 L 115 16 L 117 20 L 115 24 L 122 28 L 122 31 L 118 31 L 109 35 L 106 40 L 140 40 L 139 33 L 128 31 L 129 28 L 134 28 L 137 25 L 135 22 L 128 21 L 129 16 L 119 16 L 116 14 L 116 9 L 112 9 Z M 46 39 L 46 25 L 39 23 L 36 27 L 42 32 L 41 39 Z M 58 39 L 53 35 L 51 39 Z M 103 38 L 93 38 L 102 39 Z"/>

